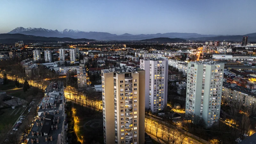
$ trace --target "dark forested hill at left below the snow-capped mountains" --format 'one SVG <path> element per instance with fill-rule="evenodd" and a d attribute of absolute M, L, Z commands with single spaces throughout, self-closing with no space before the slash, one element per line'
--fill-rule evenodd
<path fill-rule="evenodd" d="M 59 41 L 69 41 L 69 42 L 94 41 L 86 38 L 73 39 L 69 37 L 60 38 L 60 37 L 32 36 L 32 35 L 23 35 L 23 34 L 0 34 L 0 43 L 3 43 L 3 44 L 15 43 L 21 40 L 23 40 L 24 43 L 33 43 L 33 42 L 57 43 Z"/>

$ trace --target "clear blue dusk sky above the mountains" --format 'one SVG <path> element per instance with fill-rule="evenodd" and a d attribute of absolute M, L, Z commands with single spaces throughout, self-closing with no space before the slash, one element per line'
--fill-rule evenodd
<path fill-rule="evenodd" d="M 0 33 L 16 27 L 121 35 L 256 32 L 255 0 L 1 0 Z"/>

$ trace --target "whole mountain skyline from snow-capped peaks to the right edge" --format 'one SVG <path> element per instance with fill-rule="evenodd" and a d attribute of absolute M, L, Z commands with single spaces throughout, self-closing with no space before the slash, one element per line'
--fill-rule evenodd
<path fill-rule="evenodd" d="M 241 41 L 243 36 L 249 36 L 248 41 L 256 41 L 256 33 L 246 34 L 246 35 L 201 35 L 197 33 L 157 33 L 157 34 L 140 34 L 132 35 L 125 33 L 123 35 L 110 34 L 107 32 L 84 32 L 80 30 L 64 29 L 63 31 L 58 31 L 57 29 L 45 29 L 45 28 L 23 28 L 18 27 L 9 32 L 9 34 L 24 34 L 32 36 L 44 36 L 44 37 L 70 37 L 73 39 L 95 39 L 95 40 L 117 40 L 117 41 L 137 41 L 144 39 L 154 39 L 159 37 L 166 38 L 181 38 L 187 40 L 196 41 Z"/>

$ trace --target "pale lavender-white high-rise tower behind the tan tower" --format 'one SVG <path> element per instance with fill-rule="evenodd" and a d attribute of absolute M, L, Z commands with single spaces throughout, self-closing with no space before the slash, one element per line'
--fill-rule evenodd
<path fill-rule="evenodd" d="M 145 70 L 145 108 L 163 110 L 167 105 L 168 58 L 140 60 L 140 68 Z"/>

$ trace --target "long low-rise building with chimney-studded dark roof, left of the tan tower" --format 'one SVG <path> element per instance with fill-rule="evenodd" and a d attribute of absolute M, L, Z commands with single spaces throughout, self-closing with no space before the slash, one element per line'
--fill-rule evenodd
<path fill-rule="evenodd" d="M 27 144 L 66 144 L 68 124 L 65 115 L 63 83 L 50 83 L 38 107 L 38 119 L 27 137 Z"/>

